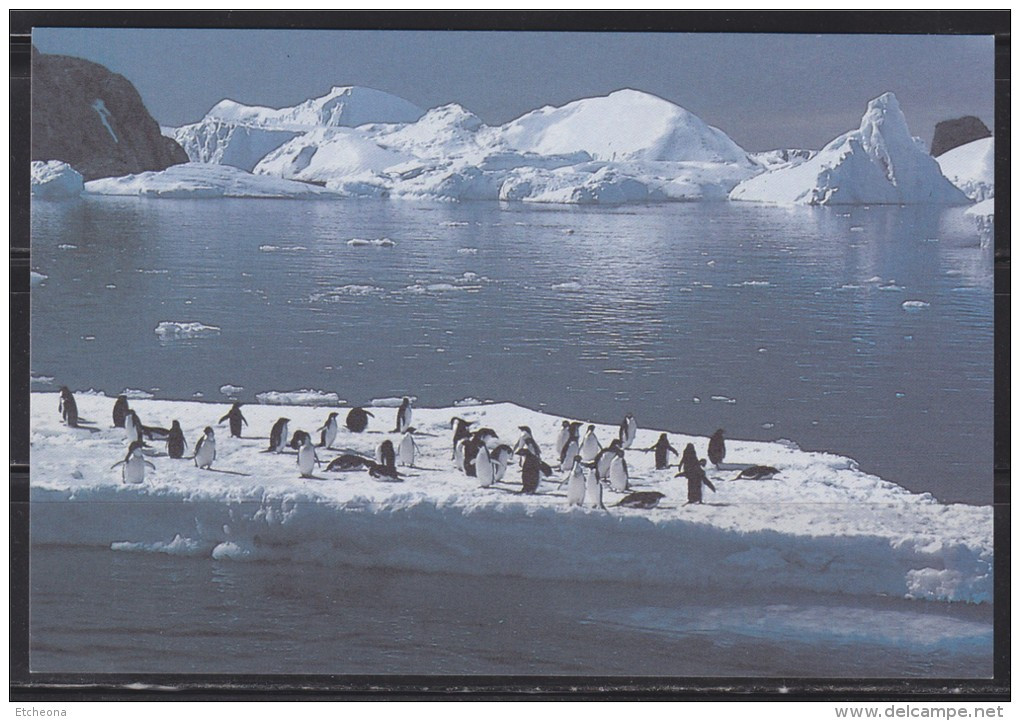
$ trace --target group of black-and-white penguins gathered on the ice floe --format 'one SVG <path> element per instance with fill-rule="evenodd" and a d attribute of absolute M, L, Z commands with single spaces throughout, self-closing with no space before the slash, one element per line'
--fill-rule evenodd
<path fill-rule="evenodd" d="M 83 423 L 90 423 L 79 417 L 73 394 L 66 387 L 60 389 L 59 412 L 63 423 L 71 428 L 81 428 Z M 322 424 L 315 428 L 314 435 L 300 428 L 290 434 L 291 419 L 279 417 L 269 428 L 268 445 L 263 447 L 262 452 L 283 455 L 296 451 L 298 474 L 301 478 L 323 479 L 315 475 L 316 470 L 321 467 L 329 474 L 367 471 L 376 480 L 401 482 L 408 477 L 408 469 L 419 468 L 416 464 L 422 455 L 422 448 L 415 439 L 416 428 L 412 425 L 413 413 L 411 398 L 404 397 L 397 409 L 394 426 L 389 431 L 389 434 L 396 437 L 382 439 L 370 450 L 365 450 L 363 446 L 362 450 L 336 447 L 341 436 L 339 412 L 329 412 Z M 374 418 L 372 413 L 363 408 L 352 408 L 344 421 L 348 432 L 346 441 L 352 442 L 366 432 L 384 432 L 368 431 L 369 421 Z M 121 477 L 125 483 L 145 481 L 146 470 L 155 469 L 147 456 L 157 455 L 158 451 L 154 447 L 163 444 L 169 459 L 187 458 L 201 470 L 233 472 L 214 468 L 216 433 L 212 425 L 205 426 L 201 435 L 195 440 L 192 455 L 186 456 L 189 444 L 177 419 L 171 421 L 169 428 L 146 425 L 136 410 L 131 408 L 128 398 L 121 395 L 113 403 L 112 422 L 113 427 L 123 429 L 128 443 L 126 454 L 112 466 L 122 466 Z M 231 439 L 244 437 L 242 430 L 248 426 L 248 420 L 241 403 L 234 403 L 219 418 L 218 424 L 223 423 L 228 423 Z M 562 420 L 551 449 L 543 449 L 528 425 L 516 427 L 517 437 L 513 445 L 504 442 L 496 429 L 475 427 L 477 425 L 477 421 L 459 416 L 450 419 L 450 460 L 457 470 L 466 478 L 472 479 L 479 488 L 524 495 L 565 496 L 569 507 L 607 510 L 607 493 L 616 496 L 616 503 L 613 504 L 615 507 L 642 510 L 658 507 L 665 495 L 659 491 L 641 490 L 642 483 L 649 479 L 631 478 L 626 458 L 628 452 L 654 453 L 656 471 L 668 469 L 670 459 L 678 458 L 673 477 L 686 479 L 687 504 L 703 503 L 706 487 L 716 492 L 716 486 L 706 471 L 708 463 L 717 471 L 724 470 L 722 463 L 726 445 L 722 428 L 710 436 L 705 459 L 699 458 L 694 443 L 687 443 L 682 453 L 678 452 L 667 433 L 661 433 L 658 441 L 648 448 L 635 448 L 638 422 L 633 413 L 629 412 L 620 422 L 616 437 L 605 446 L 598 437 L 597 426 L 581 421 Z M 344 446 L 344 443 L 339 445 Z M 337 455 L 328 459 L 320 458 L 320 453 L 329 452 L 336 452 Z M 516 471 L 511 473 L 513 468 Z M 518 473 L 519 476 L 514 477 Z M 554 478 L 557 473 L 559 475 Z M 744 466 L 731 480 L 765 480 L 777 474 L 779 470 L 772 466 L 749 465 Z M 330 476 L 326 476 L 328 477 Z M 717 477 L 716 481 L 718 480 Z M 549 483 L 545 490 L 542 486 L 544 481 Z M 636 488 L 633 487 L 633 481 L 638 481 Z M 561 493 L 564 485 L 565 494 Z"/>

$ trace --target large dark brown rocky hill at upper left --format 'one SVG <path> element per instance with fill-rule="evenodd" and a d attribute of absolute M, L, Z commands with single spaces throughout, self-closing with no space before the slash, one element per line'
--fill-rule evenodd
<path fill-rule="evenodd" d="M 123 75 L 32 50 L 32 159 L 62 160 L 86 181 L 188 162 Z"/>

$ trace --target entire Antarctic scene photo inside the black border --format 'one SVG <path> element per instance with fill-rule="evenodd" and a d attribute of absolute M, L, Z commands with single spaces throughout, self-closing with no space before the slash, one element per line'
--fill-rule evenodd
<path fill-rule="evenodd" d="M 992 673 L 992 38 L 37 29 L 38 673 Z"/>

